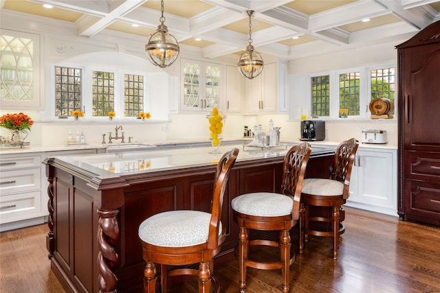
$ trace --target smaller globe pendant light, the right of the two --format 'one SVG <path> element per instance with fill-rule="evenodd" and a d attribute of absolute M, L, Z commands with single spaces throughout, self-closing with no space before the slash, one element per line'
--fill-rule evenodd
<path fill-rule="evenodd" d="M 246 13 L 249 16 L 249 38 L 248 38 L 248 46 L 246 46 L 246 51 L 241 54 L 239 62 L 237 63 L 237 67 L 245 78 L 256 78 L 261 71 L 263 71 L 263 58 L 259 53 L 254 51 L 254 46 L 252 46 L 252 22 L 251 16 L 254 14 L 253 10 L 247 10 Z"/>

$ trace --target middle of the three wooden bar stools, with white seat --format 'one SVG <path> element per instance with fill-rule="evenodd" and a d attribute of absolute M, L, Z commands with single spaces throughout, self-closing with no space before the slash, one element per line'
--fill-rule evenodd
<path fill-rule="evenodd" d="M 290 257 L 289 230 L 296 225 L 300 213 L 301 185 L 311 147 L 301 143 L 291 148 L 284 158 L 283 181 L 280 194 L 256 192 L 243 194 L 231 202 L 234 221 L 239 231 L 240 292 L 246 290 L 246 270 L 281 269 L 283 292 L 289 292 L 289 267 L 295 260 Z M 249 230 L 279 231 L 279 242 L 264 239 L 249 239 Z M 281 260 L 273 262 L 255 261 L 249 258 L 249 246 L 272 246 L 280 249 Z"/>

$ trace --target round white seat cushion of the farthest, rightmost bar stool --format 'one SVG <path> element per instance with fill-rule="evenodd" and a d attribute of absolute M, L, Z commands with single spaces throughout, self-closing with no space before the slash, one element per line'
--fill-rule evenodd
<path fill-rule="evenodd" d="M 341 196 L 343 191 L 344 183 L 323 178 L 306 178 L 301 187 L 301 193 L 316 196 Z"/>

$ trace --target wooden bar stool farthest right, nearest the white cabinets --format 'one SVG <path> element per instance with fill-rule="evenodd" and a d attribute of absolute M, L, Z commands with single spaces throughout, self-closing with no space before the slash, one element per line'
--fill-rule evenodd
<path fill-rule="evenodd" d="M 301 207 L 304 211 L 300 219 L 300 253 L 309 235 L 333 237 L 333 259 L 338 259 L 340 234 L 344 233 L 342 204 L 349 198 L 351 167 L 355 160 L 359 143 L 356 139 L 342 141 L 334 156 L 331 179 L 305 178 L 301 194 Z M 331 209 L 329 216 L 310 215 L 310 207 Z M 342 214 L 342 217 L 341 217 Z M 311 226 L 313 222 L 314 226 Z M 318 226 L 319 224 L 325 224 Z"/>

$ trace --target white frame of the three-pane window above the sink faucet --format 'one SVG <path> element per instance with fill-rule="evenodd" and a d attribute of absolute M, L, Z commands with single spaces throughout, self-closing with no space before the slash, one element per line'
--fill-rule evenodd
<path fill-rule="evenodd" d="M 133 121 L 137 119 L 137 116 L 133 117 L 124 117 L 124 74 L 133 74 L 133 75 L 142 75 L 144 78 L 144 112 L 148 112 L 148 107 L 150 104 L 150 97 L 148 94 L 148 72 L 144 71 L 135 71 L 130 69 L 118 69 L 112 67 L 101 67 L 101 66 L 89 66 L 89 65 L 78 65 L 72 63 L 59 62 L 51 67 L 51 83 L 52 83 L 52 91 L 51 91 L 51 114 L 50 117 L 53 121 L 58 121 L 61 119 L 59 116 L 55 115 L 55 67 L 72 67 L 76 69 L 82 70 L 82 84 L 81 84 L 81 102 L 83 104 L 84 110 L 84 119 L 85 121 L 109 121 L 107 116 L 92 116 L 92 108 L 93 108 L 93 99 L 92 99 L 92 76 L 93 71 L 105 71 L 111 72 L 114 74 L 114 105 L 115 105 L 115 120 L 120 121 Z M 73 116 L 68 116 L 67 121 L 74 121 Z"/>

